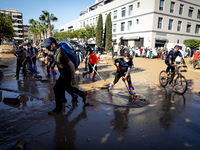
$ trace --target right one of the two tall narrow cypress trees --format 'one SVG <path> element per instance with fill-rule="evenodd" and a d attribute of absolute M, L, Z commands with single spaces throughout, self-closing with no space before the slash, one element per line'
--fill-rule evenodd
<path fill-rule="evenodd" d="M 112 21 L 110 14 L 106 18 L 106 40 L 105 50 L 108 52 L 112 48 Z"/>

